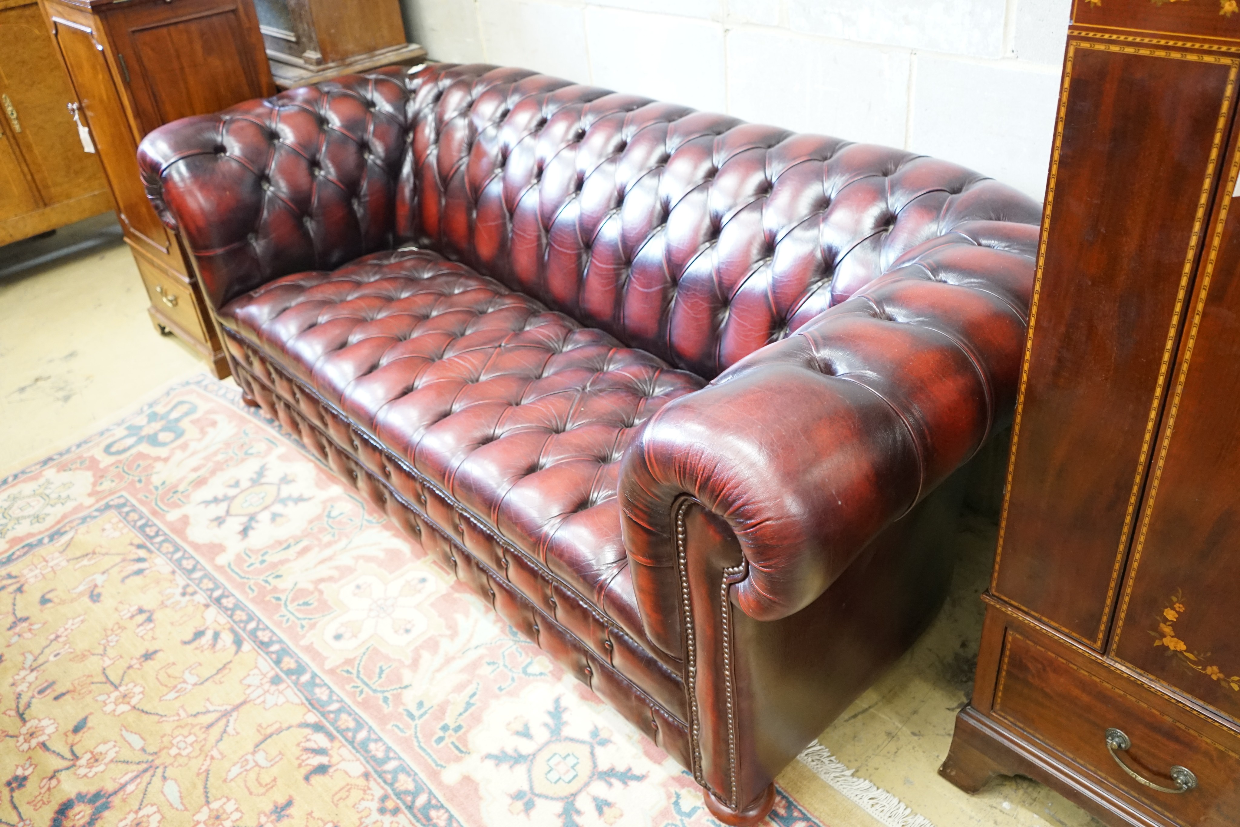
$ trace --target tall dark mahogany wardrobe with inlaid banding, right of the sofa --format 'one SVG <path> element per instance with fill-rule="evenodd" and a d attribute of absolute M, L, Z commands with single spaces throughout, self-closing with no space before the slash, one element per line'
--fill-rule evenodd
<path fill-rule="evenodd" d="M 1074 9 L 967 791 L 1240 823 L 1238 12 Z"/>

